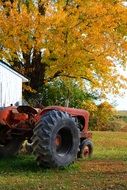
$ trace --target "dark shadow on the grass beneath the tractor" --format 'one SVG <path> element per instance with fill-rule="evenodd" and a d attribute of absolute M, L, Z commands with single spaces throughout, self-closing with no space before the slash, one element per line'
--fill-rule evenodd
<path fill-rule="evenodd" d="M 50 171 L 67 171 L 67 170 L 77 170 L 79 169 L 78 164 L 72 164 L 63 168 L 43 168 L 37 165 L 36 159 L 33 155 L 18 155 L 10 158 L 0 159 L 0 174 L 4 173 L 21 173 L 21 172 L 50 172 Z"/>

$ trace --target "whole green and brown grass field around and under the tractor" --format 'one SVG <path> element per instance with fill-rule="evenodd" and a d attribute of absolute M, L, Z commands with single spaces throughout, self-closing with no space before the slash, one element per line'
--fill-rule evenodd
<path fill-rule="evenodd" d="M 0 161 L 0 190 L 127 190 L 127 133 L 93 132 L 94 154 L 65 169 L 41 169 L 33 156 Z"/>

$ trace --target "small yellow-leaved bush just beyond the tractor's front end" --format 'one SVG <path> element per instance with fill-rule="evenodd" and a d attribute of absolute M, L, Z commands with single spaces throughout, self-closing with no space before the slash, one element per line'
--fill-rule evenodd
<path fill-rule="evenodd" d="M 82 103 L 82 108 L 90 113 L 89 127 L 91 130 L 118 131 L 121 128 L 121 124 L 116 118 L 117 111 L 107 101 L 95 104 L 91 100 L 86 100 Z"/>

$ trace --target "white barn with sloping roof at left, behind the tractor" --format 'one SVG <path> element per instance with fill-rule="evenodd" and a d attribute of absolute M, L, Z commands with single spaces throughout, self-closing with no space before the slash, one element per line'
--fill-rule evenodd
<path fill-rule="evenodd" d="M 22 105 L 22 83 L 28 79 L 0 60 L 0 107 Z"/>

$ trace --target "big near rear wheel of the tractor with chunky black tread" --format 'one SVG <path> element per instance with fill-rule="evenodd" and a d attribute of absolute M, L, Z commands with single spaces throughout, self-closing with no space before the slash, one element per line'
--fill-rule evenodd
<path fill-rule="evenodd" d="M 38 121 L 32 141 L 38 165 L 46 168 L 65 167 L 77 158 L 79 129 L 69 114 L 52 110 Z"/>

